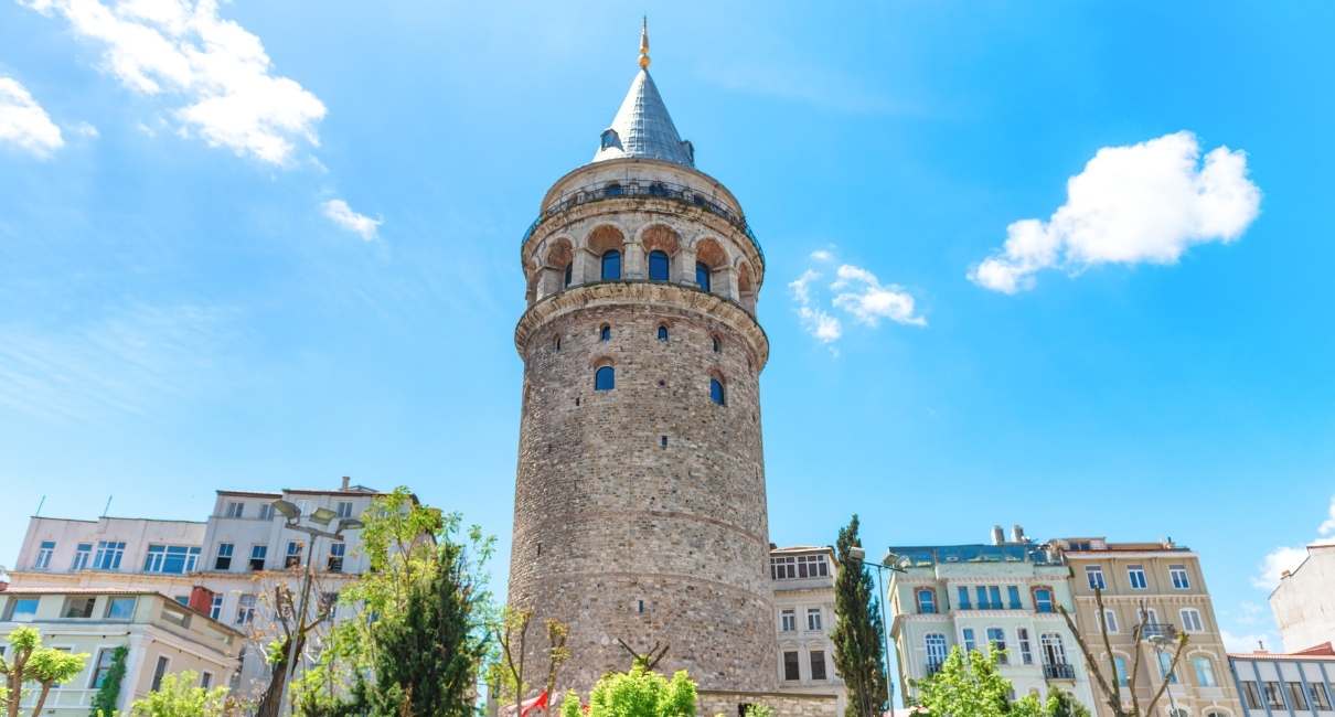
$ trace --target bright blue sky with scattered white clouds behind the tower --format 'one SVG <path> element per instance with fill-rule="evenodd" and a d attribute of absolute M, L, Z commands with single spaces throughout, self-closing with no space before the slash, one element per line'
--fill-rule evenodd
<path fill-rule="evenodd" d="M 340 475 L 507 545 L 518 242 L 641 9 L 530 5 L 0 4 L 0 563 L 43 495 Z M 1171 535 L 1274 634 L 1267 555 L 1335 533 L 1335 8 L 643 11 L 769 262 L 776 542 Z"/>

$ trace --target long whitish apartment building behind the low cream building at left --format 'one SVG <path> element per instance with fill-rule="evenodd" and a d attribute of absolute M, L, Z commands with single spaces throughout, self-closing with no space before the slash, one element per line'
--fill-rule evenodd
<path fill-rule="evenodd" d="M 302 515 L 324 507 L 339 518 L 355 518 L 375 495 L 343 478 L 336 490 L 219 490 L 204 522 L 35 517 L 9 571 L 11 591 L 119 589 L 170 595 L 246 633 L 232 689 L 239 697 L 255 697 L 268 680 L 264 646 L 279 633 L 271 617 L 275 587 L 286 583 L 298 594 L 300 571 L 294 567 L 310 557 L 316 575 L 314 613 L 318 601 L 336 600 L 342 586 L 367 566 L 358 530 L 346 533 L 342 542 L 318 539 L 308 555 L 308 535 L 284 527 L 274 501 L 296 505 Z"/>

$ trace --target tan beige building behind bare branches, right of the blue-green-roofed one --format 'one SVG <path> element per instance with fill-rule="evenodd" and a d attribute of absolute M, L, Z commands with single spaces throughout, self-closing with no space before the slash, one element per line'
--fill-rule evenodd
<path fill-rule="evenodd" d="M 1156 713 L 1173 717 L 1240 717 L 1238 692 L 1228 678 L 1228 656 L 1215 620 L 1210 590 L 1200 570 L 1200 558 L 1188 547 L 1161 542 L 1108 542 L 1105 538 L 1061 538 L 1049 543 L 1071 567 L 1071 590 L 1076 602 L 1076 624 L 1095 653 L 1099 668 L 1107 670 L 1095 590 L 1103 591 L 1108 638 L 1117 665 L 1117 682 L 1127 685 L 1127 670 L 1136 664 L 1132 638 L 1141 624 L 1147 636 L 1168 638 L 1164 649 L 1151 641 L 1140 645 L 1137 698 L 1144 706 L 1164 680 L 1168 689 Z M 1185 653 L 1173 673 L 1172 637 L 1188 636 Z M 1095 702 L 1100 716 L 1109 716 L 1097 686 Z M 1124 700 L 1129 700 L 1123 686 Z"/>

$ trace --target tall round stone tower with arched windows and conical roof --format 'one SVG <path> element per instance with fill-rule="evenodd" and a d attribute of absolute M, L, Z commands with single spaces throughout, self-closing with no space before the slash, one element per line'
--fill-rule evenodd
<path fill-rule="evenodd" d="M 582 693 L 666 648 L 702 690 L 777 688 L 756 322 L 765 258 L 639 72 L 593 162 L 547 191 L 521 248 L 523 415 L 510 604 L 570 626 Z M 625 644 L 625 646 L 622 645 Z M 534 677 L 541 682 L 541 677 Z"/>

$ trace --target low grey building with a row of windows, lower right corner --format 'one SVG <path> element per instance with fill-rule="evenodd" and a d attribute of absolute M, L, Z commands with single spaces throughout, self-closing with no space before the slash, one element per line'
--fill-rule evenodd
<path fill-rule="evenodd" d="M 1299 653 L 1231 653 L 1228 668 L 1244 717 L 1335 716 L 1335 649 L 1330 642 Z"/>

